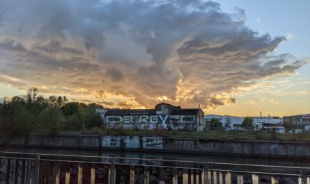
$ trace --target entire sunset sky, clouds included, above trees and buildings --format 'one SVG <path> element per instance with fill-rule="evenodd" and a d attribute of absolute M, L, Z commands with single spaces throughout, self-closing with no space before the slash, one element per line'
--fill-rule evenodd
<path fill-rule="evenodd" d="M 0 97 L 310 113 L 310 1 L 0 0 Z"/>

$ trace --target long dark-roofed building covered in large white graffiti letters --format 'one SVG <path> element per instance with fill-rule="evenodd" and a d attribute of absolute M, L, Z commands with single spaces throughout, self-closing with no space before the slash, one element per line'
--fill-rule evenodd
<path fill-rule="evenodd" d="M 201 108 L 181 108 L 169 103 L 159 103 L 155 109 L 107 110 L 104 124 L 108 128 L 163 128 L 181 131 L 201 131 L 204 126 Z"/>

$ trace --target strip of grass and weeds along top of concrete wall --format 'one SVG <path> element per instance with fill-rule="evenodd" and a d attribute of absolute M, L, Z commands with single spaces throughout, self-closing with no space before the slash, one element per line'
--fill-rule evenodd
<path fill-rule="evenodd" d="M 174 138 L 198 138 L 205 140 L 277 140 L 277 141 L 304 141 L 310 142 L 310 133 L 272 133 L 255 131 L 139 131 L 117 128 L 107 130 L 105 128 L 91 128 L 86 131 L 66 131 L 65 135 L 130 135 L 130 136 L 162 136 Z"/>

